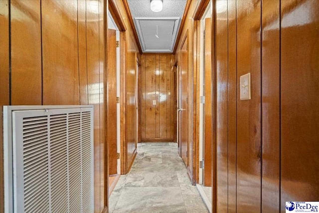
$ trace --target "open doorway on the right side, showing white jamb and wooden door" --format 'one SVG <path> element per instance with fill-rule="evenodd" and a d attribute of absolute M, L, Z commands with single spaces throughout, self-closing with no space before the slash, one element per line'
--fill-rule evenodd
<path fill-rule="evenodd" d="M 200 19 L 199 67 L 199 186 L 198 190 L 211 211 L 212 200 L 212 83 L 211 83 L 211 1 Z"/>

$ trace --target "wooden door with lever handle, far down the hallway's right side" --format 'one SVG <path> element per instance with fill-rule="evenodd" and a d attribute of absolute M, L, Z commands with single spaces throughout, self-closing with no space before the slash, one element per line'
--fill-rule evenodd
<path fill-rule="evenodd" d="M 179 128 L 178 135 L 181 146 L 181 158 L 186 167 L 188 166 L 188 44 L 187 35 L 180 51 L 179 69 Z"/>

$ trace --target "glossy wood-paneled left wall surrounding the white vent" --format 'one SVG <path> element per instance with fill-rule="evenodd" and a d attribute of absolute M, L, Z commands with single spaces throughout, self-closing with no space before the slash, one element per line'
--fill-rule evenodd
<path fill-rule="evenodd" d="M 0 0 L 0 150 L 3 105 L 94 105 L 95 212 L 105 208 L 107 191 L 105 6 L 104 0 Z M 0 159 L 3 204 L 2 151 Z"/>

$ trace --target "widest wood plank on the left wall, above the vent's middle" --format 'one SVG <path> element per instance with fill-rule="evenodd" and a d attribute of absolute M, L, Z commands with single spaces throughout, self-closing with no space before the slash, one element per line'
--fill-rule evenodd
<path fill-rule="evenodd" d="M 77 1 L 41 6 L 43 104 L 79 104 Z"/>

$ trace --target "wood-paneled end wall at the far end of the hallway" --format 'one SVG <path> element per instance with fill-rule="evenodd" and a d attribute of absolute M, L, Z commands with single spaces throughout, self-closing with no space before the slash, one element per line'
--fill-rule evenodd
<path fill-rule="evenodd" d="M 143 54 L 141 140 L 174 141 L 176 135 L 173 54 Z M 153 104 L 156 101 L 156 104 Z"/>

